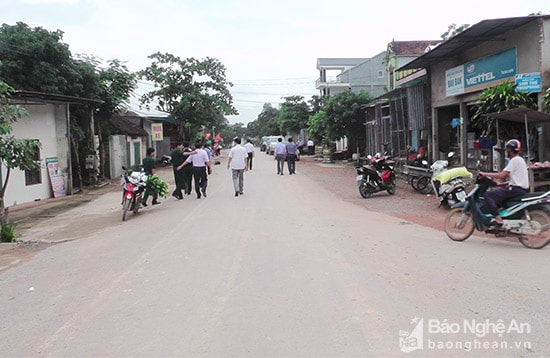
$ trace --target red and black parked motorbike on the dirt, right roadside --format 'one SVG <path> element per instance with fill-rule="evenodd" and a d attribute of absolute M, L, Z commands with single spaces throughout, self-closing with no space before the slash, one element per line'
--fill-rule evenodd
<path fill-rule="evenodd" d="M 395 163 L 380 154 L 367 158 L 369 164 L 355 168 L 359 194 L 365 199 L 383 190 L 390 195 L 395 194 Z"/>

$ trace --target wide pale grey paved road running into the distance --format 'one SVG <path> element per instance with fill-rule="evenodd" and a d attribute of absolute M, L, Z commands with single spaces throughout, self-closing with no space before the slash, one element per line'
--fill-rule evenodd
<path fill-rule="evenodd" d="M 550 251 L 454 243 L 270 158 L 238 198 L 225 162 L 125 223 L 105 195 L 112 222 L 0 274 L 2 356 L 550 354 Z"/>

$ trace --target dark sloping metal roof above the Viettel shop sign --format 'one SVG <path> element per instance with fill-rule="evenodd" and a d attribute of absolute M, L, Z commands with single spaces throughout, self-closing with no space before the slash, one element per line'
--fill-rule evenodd
<path fill-rule="evenodd" d="M 429 68 L 441 61 L 450 60 L 462 54 L 464 51 L 479 45 L 482 42 L 500 41 L 504 34 L 512 29 L 521 27 L 531 21 L 540 18 L 548 18 L 549 15 L 533 15 L 524 17 L 509 17 L 504 19 L 483 20 L 458 35 L 442 42 L 430 52 L 400 67 L 398 71 Z"/>

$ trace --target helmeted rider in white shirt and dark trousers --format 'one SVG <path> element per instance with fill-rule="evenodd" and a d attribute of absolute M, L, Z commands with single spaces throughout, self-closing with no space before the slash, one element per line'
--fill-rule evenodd
<path fill-rule="evenodd" d="M 529 173 L 527 164 L 519 156 L 521 143 L 517 139 L 510 139 L 506 142 L 506 154 L 510 161 L 504 170 L 500 173 L 483 173 L 481 176 L 489 176 L 493 179 L 509 179 L 506 186 L 485 193 L 485 207 L 495 217 L 495 223 L 502 225 L 503 221 L 499 215 L 498 207 L 506 200 L 516 196 L 523 195 L 529 189 Z"/>

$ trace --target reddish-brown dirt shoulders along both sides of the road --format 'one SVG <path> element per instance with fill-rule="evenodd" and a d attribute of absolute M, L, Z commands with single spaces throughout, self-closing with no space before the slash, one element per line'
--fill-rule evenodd
<path fill-rule="evenodd" d="M 395 195 L 390 196 L 387 192 L 380 192 L 374 194 L 369 199 L 363 199 L 357 190 L 355 182 L 356 172 L 352 163 L 337 162 L 324 164 L 313 157 L 304 156 L 302 160 L 297 162 L 296 168 L 298 175 L 308 176 L 326 189 L 336 192 L 342 200 L 364 206 L 369 210 L 399 217 L 404 222 L 413 222 L 438 230 L 442 230 L 443 228 L 447 209 L 439 208 L 439 203 L 434 196 L 422 195 L 415 192 L 404 178 L 398 179 Z M 171 168 L 161 169 L 161 176 L 169 184 L 173 183 Z M 21 205 L 9 213 L 9 218 L 10 221 L 17 223 L 16 233 L 21 234 L 40 225 L 43 220 L 55 217 L 71 208 L 95 200 L 106 192 L 119 190 L 121 189 L 118 181 L 113 181 L 102 187 L 87 189 L 79 194 L 68 197 Z M 109 215 L 109 213 L 104 215 Z M 108 220 L 105 220 L 101 219 L 102 222 L 107 223 Z M 118 222 L 118 218 L 116 220 Z M 95 213 L 80 216 L 71 225 L 61 228 L 61 231 L 59 233 L 56 232 L 56 235 L 67 235 L 69 237 L 74 231 L 91 233 L 97 230 L 97 222 L 98 216 Z M 50 245 L 53 244 L 44 242 L 1 243 L 0 272 L 32 259 L 37 252 Z"/>

